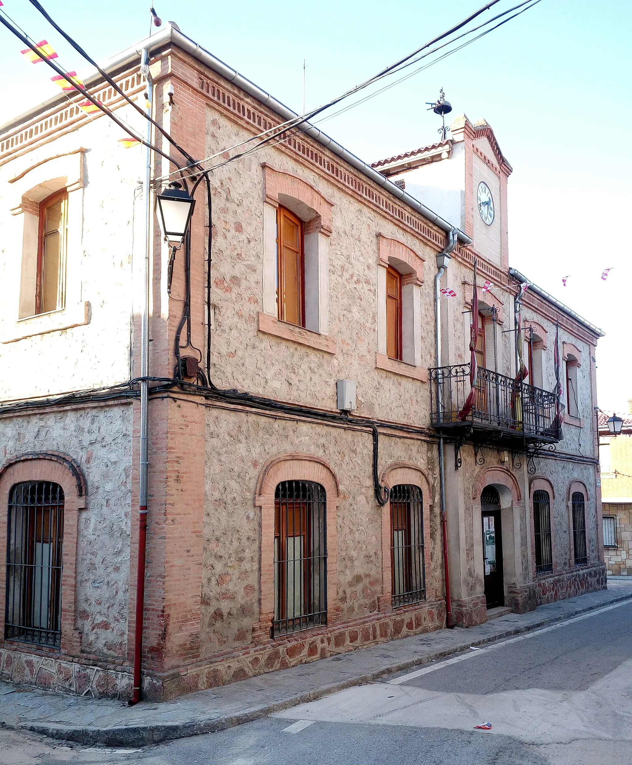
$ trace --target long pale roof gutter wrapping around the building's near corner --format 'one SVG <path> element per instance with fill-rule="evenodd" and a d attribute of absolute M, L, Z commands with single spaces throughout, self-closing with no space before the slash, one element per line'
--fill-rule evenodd
<path fill-rule="evenodd" d="M 184 50 L 194 58 L 197 58 L 198 61 L 204 63 L 214 72 L 217 72 L 226 80 L 229 80 L 231 83 L 235 84 L 239 89 L 243 90 L 245 93 L 248 93 L 249 96 L 255 98 L 257 101 L 259 101 L 259 103 L 262 103 L 263 106 L 267 106 L 269 109 L 272 109 L 273 112 L 282 117 L 284 122 L 288 119 L 295 119 L 299 116 L 296 114 L 296 112 L 292 112 L 292 109 L 288 109 L 285 104 L 282 104 L 280 101 L 277 101 L 277 99 L 273 98 L 269 93 L 266 93 L 265 90 L 262 90 L 259 86 L 256 86 L 255 83 L 247 80 L 246 77 L 243 77 L 241 74 L 239 74 L 239 72 L 229 67 L 226 63 L 223 63 L 223 61 L 213 56 L 213 54 L 210 54 L 194 40 L 191 40 L 191 37 L 187 37 L 186 34 L 182 34 L 182 32 L 174 24 L 171 23 L 166 24 L 165 28 L 161 29 L 157 34 L 152 34 L 151 37 L 146 37 L 145 40 L 127 48 L 126 50 L 122 50 L 121 53 L 116 54 L 116 56 L 110 58 L 109 60 L 106 60 L 101 68 L 111 74 L 113 70 L 124 69 L 130 64 L 138 62 L 138 56 L 141 54 L 143 48 L 146 48 L 151 54 L 158 48 L 163 47 L 165 44 L 169 43 L 177 45 L 179 48 L 181 48 L 181 50 Z M 98 83 L 101 79 L 102 78 L 100 75 L 95 73 L 90 75 L 90 77 L 86 77 L 85 84 L 87 87 L 90 87 L 93 84 Z M 55 98 L 44 102 L 40 106 L 37 106 L 34 109 L 30 109 L 28 112 L 24 112 L 24 114 L 15 117 L 15 119 L 12 119 L 10 122 L 7 122 L 5 125 L 0 127 L 0 135 L 2 135 L 2 133 L 8 132 L 8 130 L 14 128 L 16 125 L 20 125 L 22 122 L 26 122 L 28 119 L 37 116 L 37 114 L 41 113 L 45 109 L 49 109 L 52 106 L 63 103 L 64 98 L 64 96 L 56 96 Z M 441 216 L 433 212 L 433 210 L 430 210 L 429 207 L 426 207 L 425 204 L 422 204 L 419 202 L 419 200 L 416 200 L 415 197 L 411 197 L 410 194 L 406 194 L 406 191 L 403 191 L 399 188 L 399 186 L 393 184 L 393 182 L 389 181 L 386 177 L 383 176 L 383 174 L 373 170 L 369 164 L 366 164 L 366 162 L 363 162 L 356 155 L 352 154 L 350 151 L 347 151 L 344 146 L 341 146 L 339 143 L 335 142 L 333 138 L 330 138 L 326 133 L 322 132 L 318 128 L 315 128 L 314 125 L 311 125 L 309 122 L 301 122 L 298 125 L 298 129 L 300 129 L 302 132 L 305 132 L 311 138 L 314 138 L 315 141 L 318 141 L 318 143 L 329 149 L 329 151 L 340 157 L 340 159 L 343 161 L 350 164 L 353 168 L 356 168 L 356 170 L 360 171 L 363 175 L 369 177 L 373 183 L 381 186 L 385 191 L 388 191 L 389 194 L 393 194 L 394 197 L 397 197 L 403 203 L 407 204 L 409 207 L 412 207 L 413 210 L 421 213 L 422 216 L 427 218 L 431 223 L 435 223 L 435 225 L 440 229 L 443 229 L 445 232 L 449 233 L 454 228 L 454 226 L 451 223 L 448 223 L 447 220 L 441 218 Z M 459 229 L 458 240 L 465 245 L 472 243 L 471 238 Z"/>

